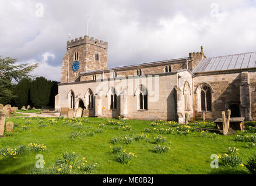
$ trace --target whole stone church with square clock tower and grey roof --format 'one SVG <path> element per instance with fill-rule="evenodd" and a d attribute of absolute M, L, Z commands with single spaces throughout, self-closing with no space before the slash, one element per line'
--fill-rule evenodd
<path fill-rule="evenodd" d="M 185 58 L 108 68 L 107 42 L 86 35 L 66 48 L 55 109 L 179 123 L 230 109 L 256 119 L 256 52 L 206 58 L 201 47 Z"/>

